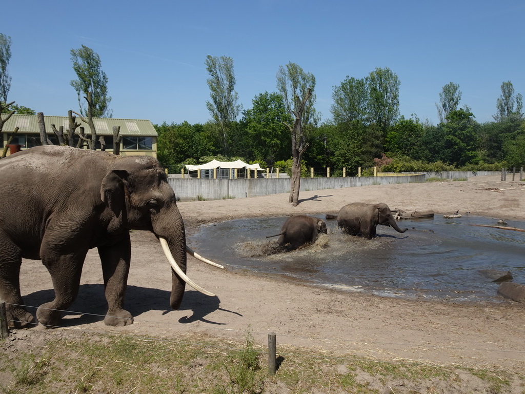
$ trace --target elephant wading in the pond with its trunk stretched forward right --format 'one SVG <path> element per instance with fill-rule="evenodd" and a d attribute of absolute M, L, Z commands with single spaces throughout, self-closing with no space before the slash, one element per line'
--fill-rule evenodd
<path fill-rule="evenodd" d="M 391 226 L 398 233 L 404 233 L 408 229 L 401 229 L 390 212 L 388 205 L 384 203 L 366 204 L 354 202 L 341 208 L 337 216 L 326 215 L 327 219 L 337 219 L 339 227 L 345 233 L 351 235 L 363 235 L 367 239 L 375 236 L 375 227 L 378 224 Z"/>

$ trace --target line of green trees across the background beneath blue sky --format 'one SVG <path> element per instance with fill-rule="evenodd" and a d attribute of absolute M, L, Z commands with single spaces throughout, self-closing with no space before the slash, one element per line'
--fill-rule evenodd
<path fill-rule="evenodd" d="M 34 114 L 7 100 L 10 45 L 10 37 L 0 33 L 2 112 Z M 92 117 L 111 117 L 108 77 L 98 54 L 82 45 L 71 49 L 71 61 L 78 79 L 70 85 L 80 112 L 73 113 L 88 125 Z M 343 168 L 348 174 L 374 166 L 384 171 L 499 170 L 525 162 L 522 96 L 514 92 L 511 81 L 502 82 L 493 121 L 484 123 L 476 121 L 468 105 L 460 107 L 459 85 L 449 82 L 438 92 L 439 123 L 433 125 L 414 114 L 402 116 L 400 79 L 387 67 L 376 68 L 361 78 L 347 76 L 334 86 L 331 118 L 321 122 L 315 108 L 316 79 L 295 63 L 279 66 L 275 89 L 256 95 L 248 109 L 238 103 L 233 59 L 207 56 L 205 65 L 211 119 L 193 125 L 187 121 L 154 125 L 159 133 L 158 158 L 171 172 L 213 158 L 259 162 L 290 172 L 295 164 L 303 175 L 310 167 L 330 167 L 334 176 Z M 0 120 L 0 131 L 5 120 Z M 91 135 L 96 136 L 96 130 Z"/>

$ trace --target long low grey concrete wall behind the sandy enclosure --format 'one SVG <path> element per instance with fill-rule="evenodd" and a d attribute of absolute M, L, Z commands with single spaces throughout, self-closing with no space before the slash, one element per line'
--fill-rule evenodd
<path fill-rule="evenodd" d="M 177 198 L 181 201 L 243 199 L 258 195 L 290 192 L 289 178 L 196 179 L 170 176 L 168 180 Z M 424 181 L 425 175 L 421 174 L 407 175 L 405 177 L 301 178 L 301 190 L 340 189 L 354 186 Z"/>

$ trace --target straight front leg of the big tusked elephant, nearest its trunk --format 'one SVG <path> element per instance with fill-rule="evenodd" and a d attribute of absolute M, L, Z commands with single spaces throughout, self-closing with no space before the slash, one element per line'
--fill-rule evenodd
<path fill-rule="evenodd" d="M 104 289 L 108 300 L 108 314 L 104 318 L 107 326 L 128 326 L 133 324 L 133 316 L 124 309 L 124 297 L 128 283 L 131 261 L 131 241 L 129 235 L 117 244 L 99 246 Z"/>

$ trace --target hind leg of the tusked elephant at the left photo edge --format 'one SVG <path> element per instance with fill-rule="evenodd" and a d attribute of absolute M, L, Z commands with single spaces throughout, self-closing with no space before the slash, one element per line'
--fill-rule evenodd
<path fill-rule="evenodd" d="M 6 242 L 0 255 L 0 299 L 6 303 L 8 326 L 21 328 L 36 323 L 35 317 L 27 312 L 20 295 L 20 265 L 22 257 L 19 248 Z"/>

